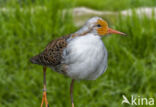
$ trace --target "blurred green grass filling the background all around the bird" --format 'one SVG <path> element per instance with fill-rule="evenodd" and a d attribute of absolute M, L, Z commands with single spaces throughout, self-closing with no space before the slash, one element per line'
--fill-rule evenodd
<path fill-rule="evenodd" d="M 29 59 L 53 39 L 76 27 L 71 12 L 89 7 L 120 11 L 156 7 L 156 0 L 1 0 L 0 1 L 0 107 L 39 107 L 42 98 L 42 67 Z M 108 69 L 95 81 L 77 81 L 75 107 L 121 107 L 122 95 L 156 99 L 156 18 L 118 15 L 109 25 L 128 34 L 103 41 L 109 53 Z M 105 19 L 105 16 L 102 16 Z M 48 69 L 50 107 L 70 107 L 71 79 Z"/>

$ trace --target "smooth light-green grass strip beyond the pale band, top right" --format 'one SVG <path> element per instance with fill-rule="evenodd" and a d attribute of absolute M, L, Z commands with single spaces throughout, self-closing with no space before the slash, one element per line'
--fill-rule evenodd
<path fill-rule="evenodd" d="M 154 7 L 155 0 L 75 0 L 76 6 L 87 6 L 98 10 L 119 11 L 136 7 Z"/>

